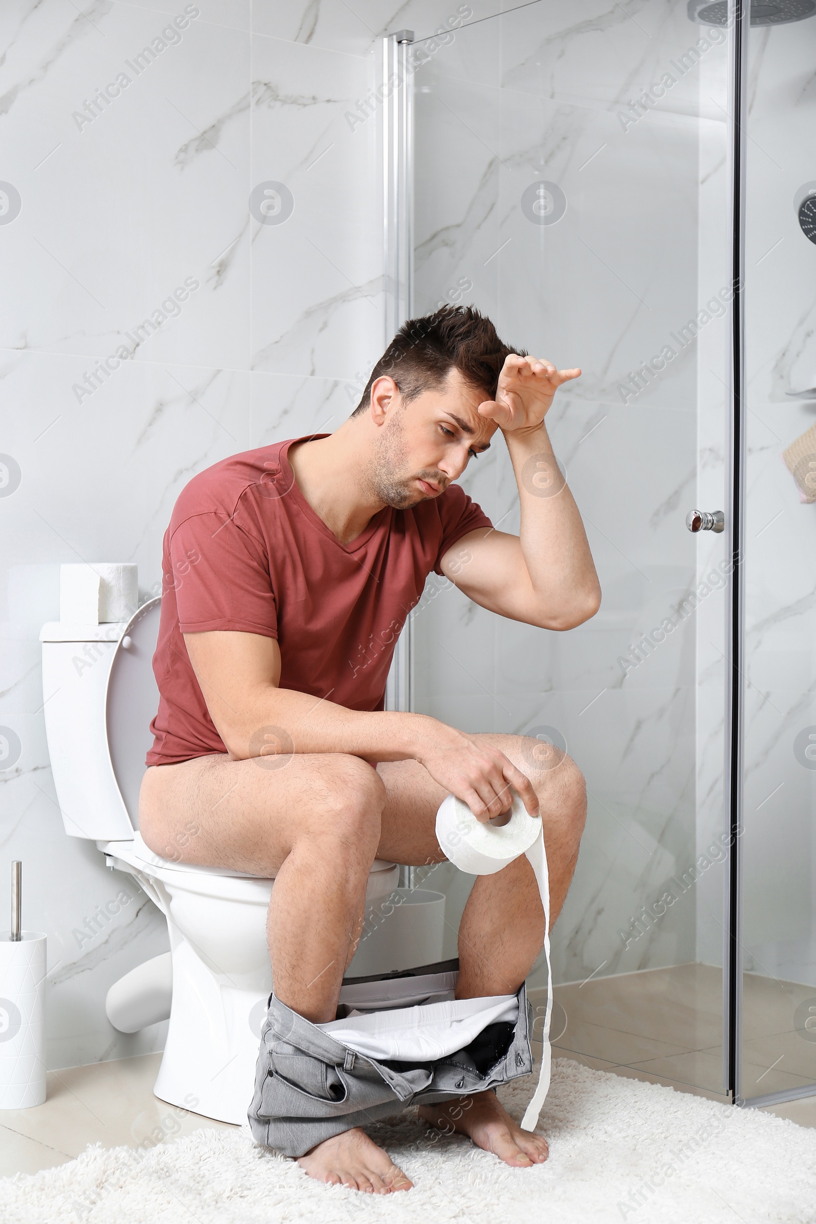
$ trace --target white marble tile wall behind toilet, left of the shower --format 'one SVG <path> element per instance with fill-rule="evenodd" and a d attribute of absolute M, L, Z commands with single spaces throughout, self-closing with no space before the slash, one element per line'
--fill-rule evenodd
<path fill-rule="evenodd" d="M 137 562 L 147 597 L 190 477 L 335 428 L 382 351 L 377 118 L 345 119 L 379 70 L 376 22 L 318 7 L 202 0 L 186 23 L 182 0 L 0 11 L 1 176 L 21 201 L 0 214 L 0 450 L 21 474 L 0 499 L 0 723 L 21 743 L 0 771 L 0 913 L 21 858 L 24 924 L 49 936 L 49 1066 L 160 1049 L 164 1026 L 119 1034 L 104 998 L 168 947 L 131 878 L 60 820 L 38 641 L 60 562 Z M 291 192 L 283 224 L 250 213 L 268 181 Z M 120 889 L 131 900 L 88 938 Z"/>

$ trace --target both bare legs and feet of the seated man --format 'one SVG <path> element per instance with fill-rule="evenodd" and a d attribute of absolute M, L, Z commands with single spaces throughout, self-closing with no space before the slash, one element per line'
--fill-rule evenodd
<path fill-rule="evenodd" d="M 569 886 L 582 829 L 580 772 L 569 759 L 558 770 L 533 769 L 533 741 L 486 738 L 516 761 L 538 791 L 554 918 Z M 434 820 L 444 791 L 416 761 L 380 765 L 379 772 L 384 789 L 368 765 L 343 754 L 295 755 L 281 769 L 268 769 L 263 760 L 230 761 L 226 755 L 213 755 L 154 766 L 143 782 L 141 830 L 155 853 L 275 875 L 269 911 L 275 994 L 316 1023 L 335 1016 L 343 973 L 362 923 L 373 858 L 415 865 L 443 858 Z M 192 838 L 185 832 L 191 821 L 199 829 Z M 175 847 L 182 841 L 179 852 Z M 505 871 L 515 868 L 524 876 L 529 864 L 526 859 L 520 864 Z M 532 871 L 526 885 L 505 871 L 480 878 L 471 892 L 460 929 L 460 998 L 516 990 L 541 950 L 543 916 Z M 505 960 L 508 955 L 510 960 Z M 473 1108 L 454 1120 L 455 1129 L 508 1163 L 526 1163 L 508 1148 L 506 1132 L 511 1137 L 517 1132 L 525 1144 L 529 1136 L 504 1114 L 495 1097 L 486 1093 L 472 1100 Z M 426 1116 L 450 1129 L 450 1119 L 439 1110 Z M 521 1154 L 520 1142 L 514 1140 Z M 318 1144 L 300 1163 L 321 1180 L 366 1191 L 389 1192 L 411 1185 L 363 1131 L 349 1131 Z"/>

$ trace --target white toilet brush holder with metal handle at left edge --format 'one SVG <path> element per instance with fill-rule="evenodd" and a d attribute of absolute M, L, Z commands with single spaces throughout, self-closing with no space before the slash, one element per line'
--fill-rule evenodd
<path fill-rule="evenodd" d="M 45 955 L 22 929 L 22 863 L 11 864 L 11 928 L 0 933 L 0 1109 L 45 1100 Z"/>

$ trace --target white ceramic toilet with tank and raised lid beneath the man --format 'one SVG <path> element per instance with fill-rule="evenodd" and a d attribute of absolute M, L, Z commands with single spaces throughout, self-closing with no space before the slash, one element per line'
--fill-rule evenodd
<path fill-rule="evenodd" d="M 95 841 L 106 863 L 130 873 L 168 920 L 172 990 L 157 1097 L 242 1125 L 272 990 L 265 925 L 274 880 L 170 862 L 138 832 L 138 792 L 159 696 L 152 670 L 159 606 L 152 600 L 127 623 L 43 627 L 49 755 L 65 831 Z M 367 900 L 389 896 L 398 883 L 399 867 L 374 860 Z M 442 916 L 436 944 L 426 941 L 417 955 L 414 965 L 442 958 Z M 367 941 L 363 972 L 409 967 L 394 966 L 391 956 L 383 944 L 378 960 L 376 939 Z M 157 958 L 165 960 L 166 953 Z M 354 971 L 355 961 L 349 976 Z"/>

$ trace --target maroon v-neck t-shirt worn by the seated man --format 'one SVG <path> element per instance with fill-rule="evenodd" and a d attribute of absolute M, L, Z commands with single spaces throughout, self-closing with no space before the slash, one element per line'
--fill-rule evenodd
<path fill-rule="evenodd" d="M 299 441 L 223 459 L 179 496 L 161 554 L 159 710 L 148 765 L 226 752 L 184 633 L 276 638 L 280 688 L 382 710 L 394 644 L 426 578 L 442 573 L 442 557 L 461 536 L 491 526 L 449 485 L 412 509 L 387 506 L 343 545 L 297 487 L 286 452 Z"/>

